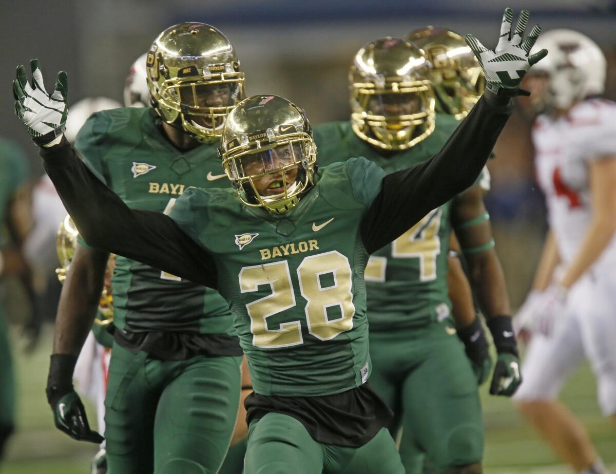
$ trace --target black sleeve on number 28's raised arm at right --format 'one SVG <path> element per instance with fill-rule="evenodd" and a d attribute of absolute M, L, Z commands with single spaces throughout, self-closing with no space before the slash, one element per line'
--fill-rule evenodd
<path fill-rule="evenodd" d="M 381 192 L 362 221 L 362 240 L 369 253 L 472 186 L 514 108 L 509 98 L 490 94 L 485 92 L 440 152 L 383 179 Z"/>

